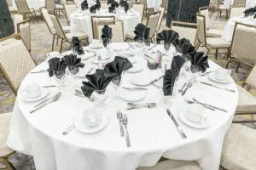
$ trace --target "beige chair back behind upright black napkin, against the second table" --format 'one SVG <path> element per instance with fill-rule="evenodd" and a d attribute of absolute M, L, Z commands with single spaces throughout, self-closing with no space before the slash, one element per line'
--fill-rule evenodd
<path fill-rule="evenodd" d="M 123 20 L 114 20 L 114 24 L 108 25 L 110 28 L 112 28 L 112 42 L 125 42 L 125 29 L 124 29 L 124 23 Z M 104 25 L 98 25 L 98 37 L 99 39 L 102 37 L 102 28 Z"/>

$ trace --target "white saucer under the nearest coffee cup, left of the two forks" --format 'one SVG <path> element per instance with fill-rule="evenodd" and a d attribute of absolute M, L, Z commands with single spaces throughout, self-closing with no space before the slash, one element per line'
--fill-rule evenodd
<path fill-rule="evenodd" d="M 108 116 L 102 115 L 102 122 L 100 122 L 96 127 L 87 127 L 83 124 L 82 114 L 79 115 L 78 119 L 75 122 L 75 127 L 80 133 L 96 133 L 102 130 L 108 124 Z"/>

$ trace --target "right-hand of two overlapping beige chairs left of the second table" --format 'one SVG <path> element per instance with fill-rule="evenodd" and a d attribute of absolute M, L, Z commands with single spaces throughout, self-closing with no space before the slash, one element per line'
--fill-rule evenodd
<path fill-rule="evenodd" d="M 72 38 L 73 37 L 79 37 L 79 40 L 84 40 L 87 44 L 89 44 L 88 41 L 88 35 L 82 33 L 82 32 L 72 32 L 72 33 L 65 33 L 62 29 L 61 23 L 57 18 L 56 14 L 50 13 L 49 14 L 50 19 L 52 20 L 53 26 L 56 31 L 57 37 L 61 38 L 61 48 L 60 48 L 60 53 L 62 52 L 62 45 L 63 42 L 68 42 L 70 44 L 70 48 L 72 45 Z"/>

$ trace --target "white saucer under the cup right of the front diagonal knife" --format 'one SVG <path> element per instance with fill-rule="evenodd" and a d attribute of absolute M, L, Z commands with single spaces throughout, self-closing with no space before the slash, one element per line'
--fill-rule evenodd
<path fill-rule="evenodd" d="M 211 125 L 211 122 L 209 121 L 209 118 L 207 118 L 206 122 L 203 123 L 197 123 L 197 122 L 191 122 L 189 121 L 189 119 L 185 116 L 185 111 L 179 111 L 178 113 L 178 117 L 180 118 L 180 120 L 185 123 L 186 125 L 188 125 L 189 127 L 194 127 L 194 128 L 207 128 Z"/>

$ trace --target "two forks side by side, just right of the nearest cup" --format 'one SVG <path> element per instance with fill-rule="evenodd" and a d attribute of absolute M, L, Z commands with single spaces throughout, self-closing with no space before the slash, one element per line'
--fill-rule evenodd
<path fill-rule="evenodd" d="M 128 133 L 128 118 L 126 114 L 123 114 L 121 111 L 117 111 L 117 118 L 119 121 L 119 127 L 120 127 L 120 136 L 125 136 L 126 146 L 131 147 L 130 137 Z"/>

